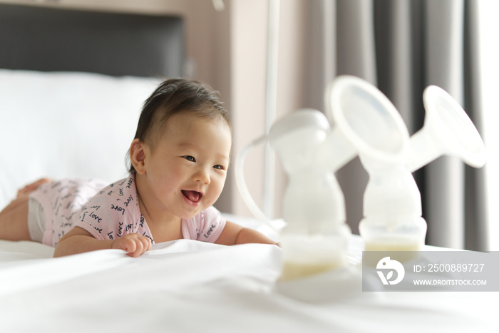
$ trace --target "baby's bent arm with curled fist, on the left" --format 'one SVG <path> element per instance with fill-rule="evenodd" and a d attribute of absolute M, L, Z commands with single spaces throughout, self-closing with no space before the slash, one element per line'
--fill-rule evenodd
<path fill-rule="evenodd" d="M 125 250 L 130 257 L 138 257 L 150 248 L 150 239 L 136 233 L 124 235 L 116 240 L 97 240 L 83 228 L 73 227 L 59 240 L 53 257 L 105 249 Z"/>

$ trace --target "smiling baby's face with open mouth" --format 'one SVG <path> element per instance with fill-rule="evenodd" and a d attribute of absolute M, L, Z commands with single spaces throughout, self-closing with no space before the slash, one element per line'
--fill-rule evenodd
<path fill-rule="evenodd" d="M 227 178 L 231 143 L 222 119 L 186 113 L 168 119 L 145 163 L 155 205 L 184 219 L 213 205 Z"/>

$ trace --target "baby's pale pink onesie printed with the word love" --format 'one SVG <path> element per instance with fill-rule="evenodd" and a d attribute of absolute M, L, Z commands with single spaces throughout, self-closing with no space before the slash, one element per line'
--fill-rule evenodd
<path fill-rule="evenodd" d="M 61 180 L 44 183 L 31 193 L 45 212 L 43 244 L 56 246 L 73 227 L 81 227 L 99 240 L 114 240 L 136 232 L 153 241 L 140 213 L 135 177 L 106 186 L 101 180 Z M 89 200 L 90 199 L 90 200 Z M 188 220 L 182 219 L 182 236 L 189 240 L 215 242 L 225 227 L 220 212 L 210 207 Z"/>

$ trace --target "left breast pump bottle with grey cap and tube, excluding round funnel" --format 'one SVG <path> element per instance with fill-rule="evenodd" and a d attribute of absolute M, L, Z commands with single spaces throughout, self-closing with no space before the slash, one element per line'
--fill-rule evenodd
<path fill-rule="evenodd" d="M 289 183 L 283 198 L 286 226 L 279 244 L 284 252 L 282 280 L 314 275 L 346 265 L 344 195 L 334 170 L 354 158 L 355 151 L 334 131 L 323 113 L 297 111 L 272 125 L 269 135 L 242 150 L 236 160 L 236 180 L 245 203 L 259 220 L 275 227 L 247 192 L 242 163 L 248 148 L 269 141 L 279 156 Z"/>

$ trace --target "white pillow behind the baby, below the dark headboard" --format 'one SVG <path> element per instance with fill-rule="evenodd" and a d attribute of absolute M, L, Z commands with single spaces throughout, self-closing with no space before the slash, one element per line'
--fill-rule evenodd
<path fill-rule="evenodd" d="M 0 69 L 0 209 L 38 178 L 125 177 L 159 78 Z"/>

